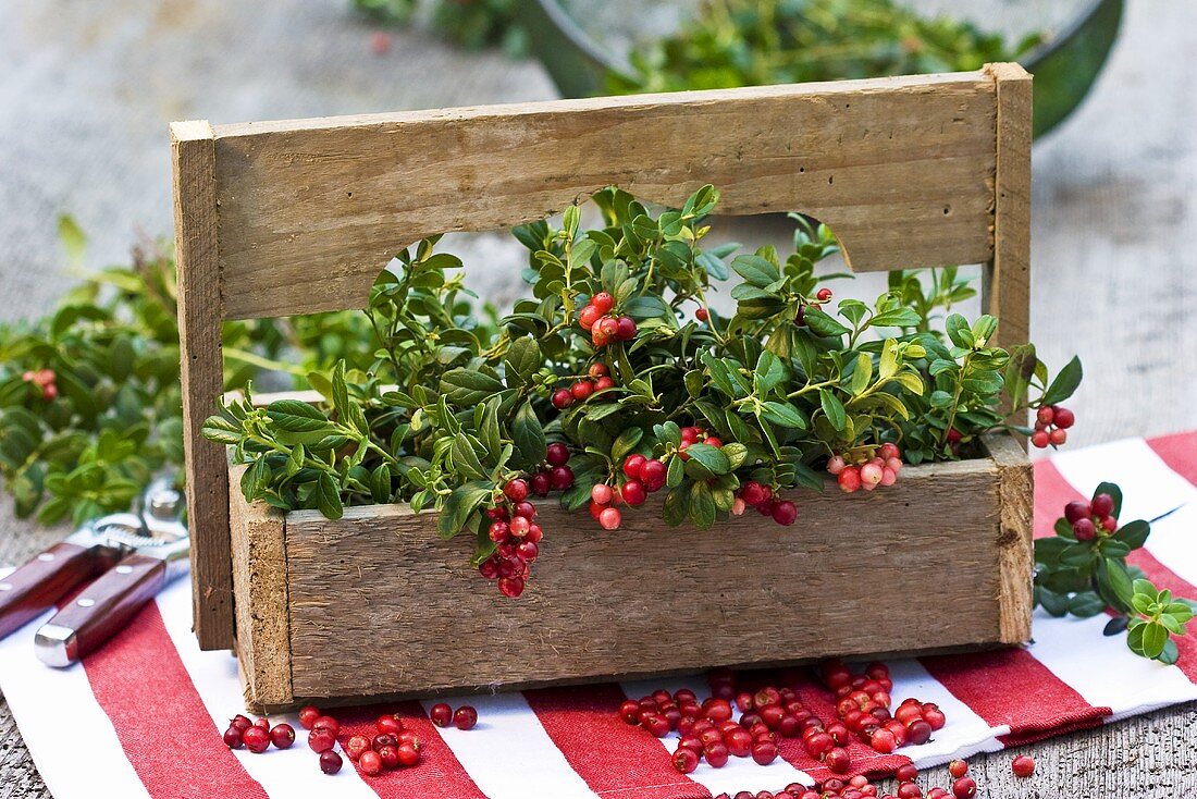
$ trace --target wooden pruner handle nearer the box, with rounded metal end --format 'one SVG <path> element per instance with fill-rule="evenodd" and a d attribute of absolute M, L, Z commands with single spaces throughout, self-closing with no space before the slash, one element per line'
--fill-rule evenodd
<path fill-rule="evenodd" d="M 37 656 L 57 667 L 80 660 L 124 629 L 165 582 L 165 561 L 128 556 L 42 625 L 34 638 Z"/>

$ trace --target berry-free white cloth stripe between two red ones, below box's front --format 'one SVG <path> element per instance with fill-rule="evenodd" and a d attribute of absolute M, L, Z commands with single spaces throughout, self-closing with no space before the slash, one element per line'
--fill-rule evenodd
<path fill-rule="evenodd" d="M 491 799 L 597 799 L 545 732 L 523 694 L 429 700 L 423 702 L 424 710 L 431 712 L 437 702 L 452 707 L 468 702 L 478 709 L 473 730 L 437 727 L 437 732 Z"/>

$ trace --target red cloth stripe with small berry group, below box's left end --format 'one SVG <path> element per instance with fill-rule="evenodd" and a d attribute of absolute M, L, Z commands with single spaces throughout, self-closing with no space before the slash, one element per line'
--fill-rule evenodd
<path fill-rule="evenodd" d="M 378 776 L 361 779 L 382 799 L 427 799 L 451 797 L 452 799 L 486 799 L 457 756 L 449 749 L 437 728 L 432 726 L 419 702 L 391 702 L 332 712 L 341 725 L 338 739 L 344 749 L 353 736 L 373 738 L 378 734 L 375 721 L 383 714 L 395 714 L 405 730 L 412 730 L 420 739 L 420 763 L 415 768 L 383 771 Z M 304 738 L 306 745 L 306 738 Z M 350 763 L 357 768 L 356 764 Z M 360 773 L 360 769 L 358 769 Z"/>

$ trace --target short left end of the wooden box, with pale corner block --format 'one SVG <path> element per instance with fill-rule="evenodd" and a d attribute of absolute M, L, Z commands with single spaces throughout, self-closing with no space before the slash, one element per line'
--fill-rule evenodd
<path fill-rule="evenodd" d="M 237 659 L 245 704 L 255 713 L 291 702 L 291 641 L 287 609 L 286 527 L 265 502 L 245 502 L 241 476 L 229 479 L 232 581 L 237 597 Z"/>

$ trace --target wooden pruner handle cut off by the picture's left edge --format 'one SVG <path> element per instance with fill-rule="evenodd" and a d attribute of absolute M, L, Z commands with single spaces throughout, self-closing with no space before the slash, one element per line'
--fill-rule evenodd
<path fill-rule="evenodd" d="M 95 550 L 63 541 L 0 580 L 0 638 L 54 607 L 98 569 Z"/>

